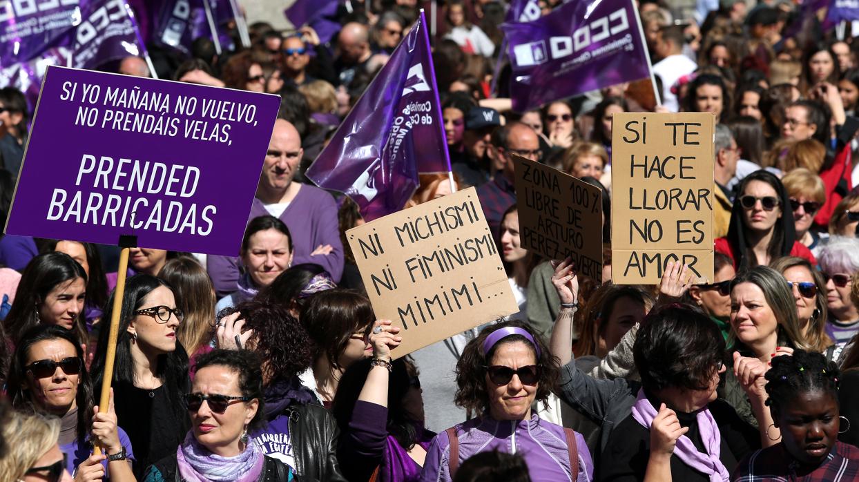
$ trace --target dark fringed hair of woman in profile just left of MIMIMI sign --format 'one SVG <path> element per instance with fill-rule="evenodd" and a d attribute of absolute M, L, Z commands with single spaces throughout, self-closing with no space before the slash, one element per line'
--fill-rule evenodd
<path fill-rule="evenodd" d="M 314 340 L 314 359 L 326 357 L 332 367 L 340 368 L 338 358 L 352 333 L 369 328 L 375 315 L 367 296 L 338 288 L 310 296 L 299 319 Z"/>

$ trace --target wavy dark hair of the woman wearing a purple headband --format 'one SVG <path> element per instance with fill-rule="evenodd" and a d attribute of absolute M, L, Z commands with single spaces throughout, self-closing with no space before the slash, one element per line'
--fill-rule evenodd
<path fill-rule="evenodd" d="M 495 355 L 499 346 L 509 343 L 524 342 L 533 350 L 531 342 L 521 335 L 510 335 L 504 337 L 492 346 L 486 354 L 483 352 L 484 340 L 490 334 L 501 328 L 508 326 L 516 326 L 525 330 L 532 336 L 539 346 L 539 356 L 534 351 L 534 359 L 537 361 L 538 370 L 538 386 L 537 396 L 535 400 L 545 404 L 549 400 L 549 395 L 557 387 L 557 380 L 560 377 L 560 367 L 557 357 L 551 354 L 549 347 L 545 345 L 543 337 L 535 332 L 530 325 L 521 321 L 504 321 L 492 326 L 487 326 L 478 335 L 476 339 L 468 342 L 465 349 L 462 351 L 462 356 L 459 362 L 456 363 L 456 384 L 459 388 L 456 390 L 454 401 L 457 406 L 461 406 L 466 410 L 472 410 L 478 414 L 489 413 L 489 395 L 486 394 L 485 365 L 490 363 L 490 360 Z"/>

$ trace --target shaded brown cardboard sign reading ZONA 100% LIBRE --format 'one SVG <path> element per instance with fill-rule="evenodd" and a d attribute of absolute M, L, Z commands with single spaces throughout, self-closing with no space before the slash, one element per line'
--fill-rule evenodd
<path fill-rule="evenodd" d="M 571 256 L 579 274 L 602 281 L 600 188 L 514 156 L 521 247 L 548 259 Z"/>

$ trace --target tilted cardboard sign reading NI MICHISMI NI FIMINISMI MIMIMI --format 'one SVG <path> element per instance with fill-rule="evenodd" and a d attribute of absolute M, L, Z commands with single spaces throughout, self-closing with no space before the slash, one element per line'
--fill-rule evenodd
<path fill-rule="evenodd" d="M 376 318 L 400 327 L 394 358 L 519 311 L 473 187 L 346 238 Z"/>

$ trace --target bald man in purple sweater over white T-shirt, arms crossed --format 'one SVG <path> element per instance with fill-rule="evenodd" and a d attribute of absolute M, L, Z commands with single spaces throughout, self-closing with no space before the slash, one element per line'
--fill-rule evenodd
<path fill-rule="evenodd" d="M 292 264 L 321 265 L 334 281 L 339 281 L 344 258 L 337 204 L 331 194 L 294 180 L 303 154 L 302 138 L 295 126 L 277 119 L 259 174 L 250 218 L 279 218 L 286 223 L 292 238 Z M 206 265 L 218 296 L 238 290 L 238 258 L 209 256 Z"/>

